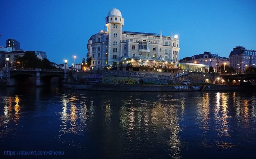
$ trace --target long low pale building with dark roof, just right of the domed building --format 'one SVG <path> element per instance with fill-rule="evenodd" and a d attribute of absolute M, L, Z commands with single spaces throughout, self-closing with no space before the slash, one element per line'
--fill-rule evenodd
<path fill-rule="evenodd" d="M 228 58 L 220 57 L 211 52 L 204 52 L 203 54 L 194 55 L 192 57 L 185 57 L 180 60 L 180 63 L 194 63 L 194 64 L 203 64 L 213 67 L 214 72 L 220 71 L 220 66 L 222 64 L 229 65 Z"/>

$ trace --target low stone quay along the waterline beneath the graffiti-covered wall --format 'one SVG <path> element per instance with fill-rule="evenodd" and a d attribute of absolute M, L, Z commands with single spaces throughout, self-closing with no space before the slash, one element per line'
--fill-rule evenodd
<path fill-rule="evenodd" d="M 178 92 L 178 91 L 211 91 L 211 90 L 247 90 L 255 86 L 238 85 L 146 85 L 146 84 L 71 84 L 64 83 L 64 88 L 103 91 L 134 91 L 134 92 Z"/>

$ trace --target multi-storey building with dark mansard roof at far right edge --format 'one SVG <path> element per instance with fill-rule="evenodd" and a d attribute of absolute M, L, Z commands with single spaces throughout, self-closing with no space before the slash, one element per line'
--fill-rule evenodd
<path fill-rule="evenodd" d="M 236 73 L 244 73 L 247 67 L 255 67 L 256 50 L 248 50 L 245 47 L 236 46 L 228 57 L 230 66 L 236 70 Z"/>

